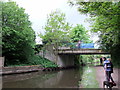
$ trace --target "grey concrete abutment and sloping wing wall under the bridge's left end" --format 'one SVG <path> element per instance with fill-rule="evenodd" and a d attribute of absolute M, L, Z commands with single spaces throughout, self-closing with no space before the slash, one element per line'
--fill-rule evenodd
<path fill-rule="evenodd" d="M 46 50 L 45 52 L 41 51 L 39 55 L 54 62 L 59 67 L 73 67 L 74 66 L 75 55 L 58 55 L 49 50 Z"/>

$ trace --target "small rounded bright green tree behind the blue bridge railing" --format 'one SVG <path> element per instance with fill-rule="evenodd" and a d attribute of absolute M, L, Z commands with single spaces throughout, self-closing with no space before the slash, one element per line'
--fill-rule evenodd
<path fill-rule="evenodd" d="M 83 25 L 79 25 L 79 24 L 77 24 L 77 26 L 75 26 L 70 31 L 70 37 L 71 37 L 73 42 L 76 42 L 79 40 L 81 40 L 84 43 L 92 42 L 91 40 L 89 40 L 90 37 L 88 35 L 88 31 L 85 30 L 85 27 L 83 27 Z"/>

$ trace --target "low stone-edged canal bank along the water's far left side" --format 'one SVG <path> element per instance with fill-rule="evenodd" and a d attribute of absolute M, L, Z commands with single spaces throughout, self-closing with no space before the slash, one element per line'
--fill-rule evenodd
<path fill-rule="evenodd" d="M 38 71 L 59 71 L 64 69 L 76 68 L 74 66 L 70 67 L 42 67 L 40 65 L 31 66 L 12 66 L 12 67 L 1 67 L 0 75 L 10 75 L 10 74 L 22 74 Z"/>

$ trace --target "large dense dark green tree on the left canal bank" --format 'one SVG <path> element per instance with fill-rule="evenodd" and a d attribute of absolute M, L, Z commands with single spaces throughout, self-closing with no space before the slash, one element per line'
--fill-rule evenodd
<path fill-rule="evenodd" d="M 34 55 L 35 32 L 23 8 L 2 2 L 2 55 L 5 65 L 28 63 Z"/>

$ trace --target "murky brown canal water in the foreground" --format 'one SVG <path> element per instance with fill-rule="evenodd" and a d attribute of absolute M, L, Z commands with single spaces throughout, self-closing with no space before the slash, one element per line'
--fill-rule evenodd
<path fill-rule="evenodd" d="M 2 88 L 77 88 L 82 69 L 3 76 Z"/>

